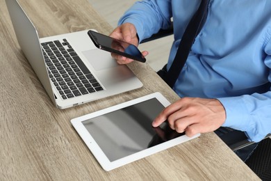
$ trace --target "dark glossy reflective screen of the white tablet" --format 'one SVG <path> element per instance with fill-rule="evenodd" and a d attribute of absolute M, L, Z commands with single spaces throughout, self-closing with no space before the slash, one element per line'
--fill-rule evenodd
<path fill-rule="evenodd" d="M 170 129 L 167 123 L 156 128 L 151 126 L 164 108 L 156 98 L 152 98 L 82 123 L 113 162 L 183 135 Z"/>

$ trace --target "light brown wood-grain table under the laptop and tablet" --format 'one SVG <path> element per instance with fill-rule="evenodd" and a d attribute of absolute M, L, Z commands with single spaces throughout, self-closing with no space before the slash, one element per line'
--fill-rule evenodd
<path fill-rule="evenodd" d="M 20 0 L 40 37 L 85 29 L 113 29 L 87 0 Z M 120 5 L 121 6 L 121 5 Z M 149 93 L 179 97 L 147 63 L 129 68 L 144 84 L 78 107 L 54 107 L 17 43 L 5 1 L 0 1 L 0 180 L 258 180 L 215 134 L 177 145 L 106 172 L 70 120 Z"/>

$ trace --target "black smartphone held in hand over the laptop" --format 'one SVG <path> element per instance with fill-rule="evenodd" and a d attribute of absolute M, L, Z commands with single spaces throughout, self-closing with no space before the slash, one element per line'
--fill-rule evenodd
<path fill-rule="evenodd" d="M 121 56 L 125 56 L 136 61 L 146 61 L 146 58 L 141 54 L 138 47 L 135 45 L 91 30 L 88 31 L 88 36 L 90 36 L 92 42 L 99 49 L 104 49 L 114 54 L 120 54 Z"/>

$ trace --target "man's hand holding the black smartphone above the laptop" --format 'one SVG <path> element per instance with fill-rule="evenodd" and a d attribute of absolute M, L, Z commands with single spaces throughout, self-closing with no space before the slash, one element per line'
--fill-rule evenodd
<path fill-rule="evenodd" d="M 110 37 L 116 38 L 117 40 L 122 40 L 124 42 L 129 42 L 138 47 L 138 36 L 136 36 L 136 27 L 131 23 L 124 23 L 118 26 L 112 33 Z M 143 56 L 147 56 L 149 53 L 147 51 L 141 52 Z M 113 58 L 119 64 L 131 63 L 133 60 L 131 58 L 126 58 L 121 55 L 111 54 Z"/>

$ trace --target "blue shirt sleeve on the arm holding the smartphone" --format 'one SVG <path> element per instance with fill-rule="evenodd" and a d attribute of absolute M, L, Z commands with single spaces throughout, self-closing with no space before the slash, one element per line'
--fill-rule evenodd
<path fill-rule="evenodd" d="M 135 25 L 138 37 L 144 40 L 160 29 L 167 29 L 171 17 L 172 9 L 169 0 L 138 1 L 124 13 L 118 25 L 126 22 Z"/>

